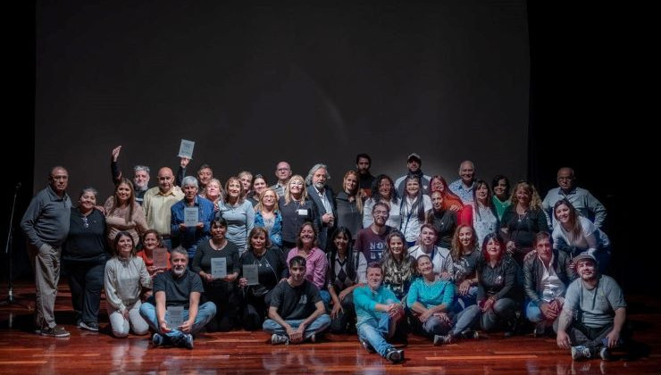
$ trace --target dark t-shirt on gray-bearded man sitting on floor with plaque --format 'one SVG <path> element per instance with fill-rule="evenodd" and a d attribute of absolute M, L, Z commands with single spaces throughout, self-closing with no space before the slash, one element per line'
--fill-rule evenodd
<path fill-rule="evenodd" d="M 157 292 L 165 292 L 165 304 L 167 306 L 183 305 L 188 310 L 190 293 L 204 293 L 202 279 L 192 271 L 186 270 L 178 279 L 174 278 L 172 271 L 161 272 L 154 279 L 154 295 Z"/>

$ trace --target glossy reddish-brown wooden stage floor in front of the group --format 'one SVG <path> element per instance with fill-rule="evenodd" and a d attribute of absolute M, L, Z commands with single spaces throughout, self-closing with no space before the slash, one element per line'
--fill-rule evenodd
<path fill-rule="evenodd" d="M 326 335 L 321 343 L 272 346 L 263 332 L 236 330 L 199 335 L 193 350 L 152 348 L 148 337 L 110 335 L 105 301 L 101 332 L 76 329 L 71 294 L 65 281 L 56 303 L 59 324 L 71 337 L 32 333 L 34 287 L 14 287 L 16 302 L 0 306 L 0 374 L 96 373 L 433 373 L 433 374 L 658 374 L 661 373 L 661 302 L 628 296 L 634 333 L 633 353 L 613 362 L 572 362 L 554 337 L 502 333 L 482 334 L 448 346 L 432 346 L 423 337 L 409 337 L 406 361 L 390 364 L 368 354 L 355 335 Z M 6 299 L 3 287 L 2 300 Z M 19 305 L 21 304 L 21 305 Z"/>

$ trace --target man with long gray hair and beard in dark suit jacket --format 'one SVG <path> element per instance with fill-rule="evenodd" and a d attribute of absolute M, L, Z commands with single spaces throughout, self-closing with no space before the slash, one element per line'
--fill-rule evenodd
<path fill-rule="evenodd" d="M 326 181 L 331 179 L 326 164 L 314 164 L 314 167 L 307 173 L 305 185 L 307 185 L 307 195 L 314 202 L 319 212 L 319 247 L 326 250 L 326 242 L 329 235 L 335 228 L 337 208 L 335 207 L 335 195 L 331 187 L 326 185 Z"/>

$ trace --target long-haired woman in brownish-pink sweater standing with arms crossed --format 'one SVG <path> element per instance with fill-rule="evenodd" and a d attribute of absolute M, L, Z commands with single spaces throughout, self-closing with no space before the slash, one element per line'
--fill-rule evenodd
<path fill-rule="evenodd" d="M 117 233 L 128 232 L 133 243 L 138 244 L 140 235 L 149 229 L 146 225 L 145 212 L 136 203 L 136 194 L 129 179 L 122 178 L 114 188 L 114 196 L 104 204 L 105 224 L 108 228 L 108 244 L 112 244 Z"/>

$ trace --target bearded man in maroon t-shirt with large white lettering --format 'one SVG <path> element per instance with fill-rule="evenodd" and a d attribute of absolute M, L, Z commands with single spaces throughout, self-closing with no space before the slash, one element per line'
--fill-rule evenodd
<path fill-rule="evenodd" d="M 386 237 L 393 230 L 386 225 L 390 207 L 385 202 L 378 202 L 372 206 L 372 224 L 360 229 L 356 235 L 354 251 L 363 253 L 367 262 L 380 262 L 383 250 L 386 248 Z"/>

